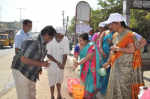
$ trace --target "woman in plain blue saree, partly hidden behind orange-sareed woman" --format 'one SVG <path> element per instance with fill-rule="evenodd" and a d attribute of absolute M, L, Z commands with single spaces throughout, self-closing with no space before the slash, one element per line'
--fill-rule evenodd
<path fill-rule="evenodd" d="M 103 64 L 107 62 L 110 54 L 110 44 L 112 43 L 112 37 L 115 32 L 112 31 L 109 24 L 107 25 L 109 30 L 104 31 L 100 36 L 100 68 L 102 68 Z M 106 75 L 100 77 L 100 93 L 101 97 L 106 94 L 108 80 L 110 74 L 110 67 L 106 70 Z"/>

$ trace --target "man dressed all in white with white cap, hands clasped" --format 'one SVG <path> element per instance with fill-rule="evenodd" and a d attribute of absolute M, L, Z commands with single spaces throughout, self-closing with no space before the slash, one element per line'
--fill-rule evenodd
<path fill-rule="evenodd" d="M 61 97 L 61 83 L 63 82 L 64 68 L 67 60 L 67 54 L 69 51 L 69 40 L 66 38 L 64 28 L 56 28 L 57 34 L 47 44 L 47 59 L 51 59 L 51 63 L 48 71 L 49 86 L 51 91 L 51 99 L 54 98 L 54 87 L 56 85 L 58 96 L 57 99 L 62 99 Z"/>

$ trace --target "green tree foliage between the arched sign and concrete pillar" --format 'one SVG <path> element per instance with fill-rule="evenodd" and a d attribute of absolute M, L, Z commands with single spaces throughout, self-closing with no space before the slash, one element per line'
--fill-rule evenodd
<path fill-rule="evenodd" d="M 106 21 L 111 13 L 122 13 L 122 0 L 98 0 L 101 9 L 91 10 L 91 26 L 98 31 L 100 22 Z"/>

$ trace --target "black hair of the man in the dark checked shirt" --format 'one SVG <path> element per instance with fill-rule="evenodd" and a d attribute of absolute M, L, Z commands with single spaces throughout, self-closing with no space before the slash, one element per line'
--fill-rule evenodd
<path fill-rule="evenodd" d="M 54 36 L 56 34 L 56 30 L 53 28 L 53 26 L 48 25 L 41 30 L 41 34 L 42 35 L 48 34 L 49 36 Z"/>

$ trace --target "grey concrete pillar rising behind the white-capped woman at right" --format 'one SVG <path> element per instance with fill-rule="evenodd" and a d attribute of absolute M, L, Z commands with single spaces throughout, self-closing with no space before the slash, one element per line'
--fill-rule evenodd
<path fill-rule="evenodd" d="M 130 27 L 130 4 L 131 0 L 123 0 L 123 16 L 126 18 L 127 26 Z"/>

